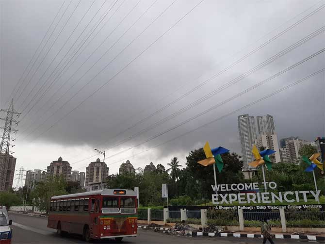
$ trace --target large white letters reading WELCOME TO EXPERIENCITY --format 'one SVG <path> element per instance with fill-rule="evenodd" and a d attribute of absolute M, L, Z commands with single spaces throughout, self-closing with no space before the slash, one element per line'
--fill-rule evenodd
<path fill-rule="evenodd" d="M 267 186 L 270 189 L 276 189 L 276 182 L 264 182 L 264 189 Z M 316 202 L 319 202 L 319 195 L 321 191 L 289 191 L 289 192 L 257 192 L 257 193 L 224 193 L 228 191 L 259 191 L 259 183 L 239 183 L 239 184 L 220 184 L 211 185 L 212 190 L 215 193 L 222 192 L 219 194 L 212 194 L 213 204 L 231 204 L 238 202 L 239 204 L 250 204 L 250 203 L 276 203 L 276 202 L 308 202 L 308 196 L 312 196 Z"/>

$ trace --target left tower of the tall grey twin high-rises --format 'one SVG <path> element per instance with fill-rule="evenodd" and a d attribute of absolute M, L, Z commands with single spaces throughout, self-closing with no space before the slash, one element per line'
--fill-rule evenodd
<path fill-rule="evenodd" d="M 254 143 L 254 139 L 256 138 L 254 116 L 249 116 L 248 114 L 239 115 L 238 131 L 244 161 L 244 170 L 248 170 L 250 169 L 248 163 L 254 160 L 252 154 L 252 145 Z"/>

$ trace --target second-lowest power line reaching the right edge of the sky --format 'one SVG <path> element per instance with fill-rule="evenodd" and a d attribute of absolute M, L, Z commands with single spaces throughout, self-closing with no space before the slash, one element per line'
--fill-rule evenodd
<path fill-rule="evenodd" d="M 295 64 L 293 64 L 293 65 L 291 65 L 291 66 L 289 66 L 289 67 L 287 67 L 287 68 L 285 68 L 285 69 L 283 69 L 283 70 L 281 70 L 280 72 L 274 74 L 273 76 L 271 76 L 271 77 L 269 77 L 269 78 L 267 78 L 267 79 L 265 79 L 265 80 L 263 80 L 263 81 L 260 81 L 259 83 L 257 83 L 257 84 L 255 84 L 255 85 L 253 85 L 253 86 L 251 86 L 251 87 L 245 89 L 244 91 L 242 91 L 242 92 L 240 92 L 240 93 L 238 93 L 238 94 L 236 94 L 236 95 L 234 95 L 234 96 L 232 96 L 232 97 L 230 97 L 230 98 L 227 98 L 226 100 L 224 100 L 224 101 L 222 101 L 222 102 L 220 102 L 220 103 L 218 103 L 218 104 L 216 104 L 216 105 L 214 105 L 214 106 L 212 106 L 212 107 L 206 109 L 205 111 L 200 112 L 199 114 L 196 114 L 196 115 L 194 115 L 194 116 L 192 116 L 192 117 L 186 119 L 185 121 L 183 121 L 183 122 L 181 122 L 181 123 L 179 123 L 179 124 L 177 124 L 177 125 L 175 125 L 175 126 L 169 128 L 169 129 L 167 129 L 167 130 L 165 130 L 165 131 L 163 131 L 163 132 L 161 132 L 161 133 L 156 134 L 155 136 L 153 136 L 153 137 L 151 137 L 151 138 L 149 138 L 149 139 L 146 139 L 146 141 L 144 141 L 144 142 L 141 142 L 141 143 L 139 143 L 139 144 L 137 144 L 137 145 L 135 145 L 135 146 L 132 146 L 132 147 L 130 147 L 130 148 L 128 148 L 128 149 L 125 149 L 125 150 L 123 150 L 123 151 L 120 151 L 120 152 L 118 152 L 118 153 L 115 153 L 114 155 L 111 155 L 111 156 L 107 157 L 107 159 L 108 159 L 108 158 L 111 158 L 111 157 L 114 157 L 114 156 L 116 156 L 116 155 L 118 155 L 118 154 L 124 153 L 124 152 L 126 152 L 126 151 L 129 151 L 130 149 L 133 149 L 133 148 L 135 148 L 135 147 L 137 147 L 137 146 L 141 146 L 141 145 L 147 143 L 148 141 L 151 141 L 151 140 L 153 140 L 153 139 L 155 139 L 155 138 L 157 138 L 157 137 L 159 137 L 159 136 L 161 136 L 161 135 L 163 135 L 163 134 L 166 134 L 166 133 L 169 132 L 169 131 L 175 130 L 175 129 L 179 128 L 180 126 L 182 126 L 182 125 L 184 125 L 184 124 L 186 124 L 186 123 L 188 123 L 188 122 L 190 122 L 190 121 L 192 121 L 192 120 L 194 120 L 194 119 L 196 119 L 196 118 L 198 118 L 198 117 L 200 117 L 200 116 L 202 116 L 202 115 L 204 115 L 204 114 L 207 114 L 207 113 L 211 112 L 212 110 L 214 110 L 214 109 L 216 109 L 216 108 L 219 108 L 220 106 L 222 106 L 222 105 L 224 105 L 224 104 L 226 104 L 226 103 L 228 103 L 228 102 L 230 102 L 230 101 L 232 101 L 232 100 L 234 100 L 234 99 L 236 99 L 236 98 L 241 97 L 242 95 L 244 95 L 244 94 L 246 94 L 246 93 L 252 91 L 253 89 L 256 89 L 256 88 L 259 87 L 260 85 L 263 85 L 263 84 L 265 84 L 266 82 L 271 81 L 271 80 L 275 79 L 276 77 L 279 77 L 280 75 L 284 74 L 285 72 L 288 72 L 289 70 L 295 68 L 296 66 L 301 65 L 301 64 L 305 63 L 306 61 L 308 61 L 308 60 L 310 60 L 310 59 L 312 59 L 312 58 L 316 57 L 317 55 L 322 54 L 322 53 L 324 53 L 324 52 L 325 52 L 325 49 L 321 49 L 321 50 L 317 51 L 316 53 L 310 55 L 309 57 L 307 57 L 307 58 L 305 58 L 305 59 L 303 59 L 303 60 L 301 60 L 301 61 L 299 61 L 299 62 L 297 62 L 297 63 L 295 63 Z M 133 139 L 134 137 L 131 136 L 130 138 Z M 107 148 L 106 150 L 111 149 L 111 148 L 114 148 L 115 146 L 116 146 L 116 145 L 114 145 L 113 147 Z M 117 145 L 117 146 L 118 146 L 118 145 Z M 87 158 L 87 159 L 89 159 L 89 158 Z M 84 160 L 85 160 L 85 159 L 84 159 Z M 76 162 L 76 163 L 82 162 L 82 161 L 84 161 L 84 160 L 78 161 L 78 162 Z M 74 164 L 74 163 L 71 163 L 71 164 Z"/>

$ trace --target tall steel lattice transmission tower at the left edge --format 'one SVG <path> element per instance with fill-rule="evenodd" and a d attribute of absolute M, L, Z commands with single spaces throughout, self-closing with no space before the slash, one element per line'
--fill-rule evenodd
<path fill-rule="evenodd" d="M 16 121 L 14 119 L 14 115 L 19 116 L 20 113 L 18 113 L 16 110 L 14 110 L 14 98 L 11 100 L 10 106 L 8 109 L 1 109 L 0 112 L 6 112 L 7 115 L 5 118 L 0 118 L 1 120 L 5 121 L 5 124 L 3 127 L 0 127 L 0 129 L 3 130 L 2 138 L 1 138 L 1 144 L 0 144 L 0 191 L 4 190 L 5 183 L 6 183 L 6 174 L 7 174 L 7 164 L 9 162 L 9 154 L 14 153 L 9 150 L 10 146 L 14 147 L 15 145 L 10 145 L 10 135 L 13 131 L 16 133 L 18 130 L 13 128 L 14 125 L 18 125 L 19 121 Z M 12 139 L 13 141 L 16 139 Z M 12 170 L 12 169 L 9 169 Z M 15 170 L 15 169 L 13 169 Z M 12 184 L 12 180 L 11 180 Z M 10 186 L 11 187 L 11 186 Z M 9 189 L 8 189 L 9 190 Z"/>

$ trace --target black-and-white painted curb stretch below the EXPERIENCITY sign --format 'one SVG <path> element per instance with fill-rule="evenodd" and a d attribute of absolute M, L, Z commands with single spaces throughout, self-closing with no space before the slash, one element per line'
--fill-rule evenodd
<path fill-rule="evenodd" d="M 242 237 L 242 238 L 263 238 L 260 234 L 242 234 L 242 233 L 210 233 L 210 232 L 195 232 L 189 231 L 190 236 L 210 236 L 210 237 Z M 276 234 L 272 235 L 275 239 L 300 239 L 309 241 L 325 241 L 324 236 L 314 236 L 314 235 L 286 235 L 286 234 Z"/>

